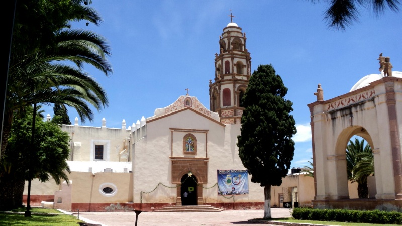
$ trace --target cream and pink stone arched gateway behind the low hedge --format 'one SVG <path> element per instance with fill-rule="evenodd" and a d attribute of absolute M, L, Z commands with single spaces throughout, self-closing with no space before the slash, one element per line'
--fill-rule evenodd
<path fill-rule="evenodd" d="M 402 73 L 393 75 L 397 77 L 379 77 L 347 94 L 308 104 L 315 207 L 374 209 L 384 204 L 402 207 Z M 345 150 L 354 135 L 364 138 L 373 150 L 373 199 L 349 199 Z"/>

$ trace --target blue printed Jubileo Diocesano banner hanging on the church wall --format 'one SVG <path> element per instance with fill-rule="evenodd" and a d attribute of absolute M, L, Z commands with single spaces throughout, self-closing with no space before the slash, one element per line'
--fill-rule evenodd
<path fill-rule="evenodd" d="M 218 195 L 249 194 L 248 170 L 218 170 Z"/>

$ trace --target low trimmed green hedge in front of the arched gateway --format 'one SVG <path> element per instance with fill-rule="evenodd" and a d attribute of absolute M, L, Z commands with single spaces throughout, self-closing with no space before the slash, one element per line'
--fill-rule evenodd
<path fill-rule="evenodd" d="M 396 211 L 294 208 L 291 214 L 304 220 L 402 224 L 402 213 Z"/>

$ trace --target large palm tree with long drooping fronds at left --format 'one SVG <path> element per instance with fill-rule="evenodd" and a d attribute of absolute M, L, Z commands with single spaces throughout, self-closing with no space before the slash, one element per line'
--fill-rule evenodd
<path fill-rule="evenodd" d="M 63 108 L 65 106 L 75 108 L 81 121 L 84 122 L 85 119 L 90 121 L 93 119 L 90 106 L 100 110 L 108 105 L 106 92 L 89 74 L 82 70 L 82 66 L 84 64 L 92 65 L 109 76 L 112 73 L 111 64 L 106 58 L 107 55 L 110 55 L 109 43 L 96 33 L 69 29 L 69 21 L 83 18 L 88 22 L 99 24 L 101 19 L 96 11 L 89 7 L 83 9 L 83 11 L 72 14 L 62 26 L 55 28 L 54 36 L 47 39 L 48 45 L 43 45 L 42 40 L 40 45 L 26 48 L 27 45 L 13 42 L 1 158 L 6 150 L 15 110 L 24 112 L 27 106 L 37 103 L 59 104 Z M 72 62 L 76 67 L 66 64 L 66 61 Z M 35 119 L 35 117 L 33 118 Z M 34 126 L 32 128 L 32 134 L 35 134 Z M 3 166 L 6 167 L 5 172 L 7 172 L 7 166 Z M 57 172 L 59 170 L 57 167 L 53 170 L 55 174 L 60 173 Z M 6 177 L 2 175 L 0 177 L 1 193 L 21 184 L 21 181 L 15 181 L 12 178 L 9 178 L 10 181 L 8 181 Z M 4 200 L 0 200 L 0 202 L 5 203 Z"/>

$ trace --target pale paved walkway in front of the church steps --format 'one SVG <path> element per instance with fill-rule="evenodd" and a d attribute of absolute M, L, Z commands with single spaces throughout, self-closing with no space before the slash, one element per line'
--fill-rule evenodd
<path fill-rule="evenodd" d="M 77 212 L 72 212 L 75 216 Z M 263 223 L 251 223 L 247 220 L 262 218 L 264 210 L 225 210 L 222 212 L 142 212 L 138 215 L 137 225 L 174 225 L 174 226 L 198 226 L 198 225 L 270 225 Z M 272 208 L 273 218 L 290 217 L 290 209 Z M 79 212 L 79 218 L 87 223 L 98 223 L 103 226 L 135 225 L 136 214 L 130 212 Z"/>

